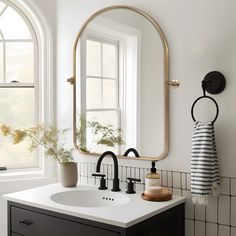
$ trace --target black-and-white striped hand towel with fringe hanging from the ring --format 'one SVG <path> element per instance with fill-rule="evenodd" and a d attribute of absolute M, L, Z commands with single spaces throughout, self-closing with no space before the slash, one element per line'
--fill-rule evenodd
<path fill-rule="evenodd" d="M 219 194 L 220 184 L 212 122 L 195 122 L 191 156 L 192 201 L 206 205 L 209 195 Z"/>

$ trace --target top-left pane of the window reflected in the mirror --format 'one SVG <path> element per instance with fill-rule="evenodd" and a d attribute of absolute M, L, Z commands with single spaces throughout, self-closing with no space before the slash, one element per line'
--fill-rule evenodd
<path fill-rule="evenodd" d="M 87 40 L 86 70 L 88 76 L 101 76 L 101 43 Z"/>

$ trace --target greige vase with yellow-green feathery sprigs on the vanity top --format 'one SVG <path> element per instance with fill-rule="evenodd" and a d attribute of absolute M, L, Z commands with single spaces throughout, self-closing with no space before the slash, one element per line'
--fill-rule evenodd
<path fill-rule="evenodd" d="M 77 163 L 72 157 L 73 148 L 67 149 L 59 140 L 68 129 L 59 130 L 55 126 L 37 125 L 25 129 L 13 129 L 6 124 L 0 125 L 2 134 L 12 139 L 14 145 L 29 139 L 29 150 L 35 150 L 39 145 L 44 147 L 47 156 L 53 157 L 59 163 L 59 180 L 64 187 L 76 186 L 78 181 Z"/>

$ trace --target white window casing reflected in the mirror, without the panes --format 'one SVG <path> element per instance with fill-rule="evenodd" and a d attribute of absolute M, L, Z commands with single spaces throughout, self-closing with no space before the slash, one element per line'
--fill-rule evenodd
<path fill-rule="evenodd" d="M 127 26 L 106 17 L 99 17 L 96 23 L 90 22 L 86 32 L 80 40 L 78 58 L 81 57 L 85 47 L 85 39 L 88 35 L 106 37 L 119 40 L 119 95 L 120 127 L 127 147 L 137 148 L 140 145 L 140 78 L 141 78 L 141 37 L 139 29 Z M 79 75 L 84 78 L 83 65 L 79 65 Z M 80 83 L 80 82 L 79 82 Z M 79 84 L 82 95 L 86 90 Z M 135 89 L 134 89 L 135 88 Z M 83 96 L 83 95 L 82 95 Z M 81 104 L 81 101 L 80 101 Z M 81 113 L 81 110 L 79 111 Z M 125 121 L 125 122 L 123 122 Z M 124 152 L 125 150 L 120 150 Z"/>

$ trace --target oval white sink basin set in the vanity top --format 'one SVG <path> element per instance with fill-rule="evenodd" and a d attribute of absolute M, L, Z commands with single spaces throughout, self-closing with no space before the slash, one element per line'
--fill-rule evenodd
<path fill-rule="evenodd" d="M 110 191 L 73 190 L 55 193 L 51 196 L 51 200 L 75 207 L 109 207 L 126 204 L 130 201 L 130 198 Z"/>

